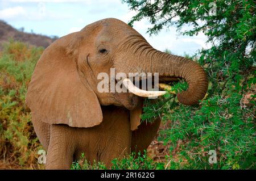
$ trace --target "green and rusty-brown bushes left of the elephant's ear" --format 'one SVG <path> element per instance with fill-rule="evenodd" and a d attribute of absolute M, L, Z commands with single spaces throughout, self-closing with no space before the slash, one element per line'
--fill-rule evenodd
<path fill-rule="evenodd" d="M 0 54 L 0 159 L 4 165 L 38 168 L 42 148 L 24 105 L 27 86 L 43 48 L 10 40 Z"/>

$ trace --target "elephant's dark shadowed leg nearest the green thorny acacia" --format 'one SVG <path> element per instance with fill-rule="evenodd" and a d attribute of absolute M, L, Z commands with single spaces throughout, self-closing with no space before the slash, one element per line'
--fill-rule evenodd
<path fill-rule="evenodd" d="M 160 121 L 160 117 L 158 117 L 154 123 L 146 123 L 146 121 L 144 121 L 139 125 L 138 129 L 133 131 L 133 136 L 131 138 L 131 152 L 135 151 L 135 153 L 138 153 L 140 151 L 141 153 L 144 153 L 144 150 L 147 150 L 158 132 Z"/>

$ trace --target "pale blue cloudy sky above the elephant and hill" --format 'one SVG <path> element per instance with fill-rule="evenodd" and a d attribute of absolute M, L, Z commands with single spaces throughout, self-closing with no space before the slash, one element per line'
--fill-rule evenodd
<path fill-rule="evenodd" d="M 0 19 L 25 32 L 47 36 L 64 36 L 80 31 L 86 25 L 105 18 L 117 18 L 127 23 L 136 14 L 121 0 L 0 0 Z M 147 19 L 134 23 L 134 29 L 158 50 L 169 49 L 173 54 L 195 53 L 209 48 L 203 33 L 180 36 L 176 28 L 162 30 L 150 36 Z M 188 27 L 189 28 L 189 27 Z"/>

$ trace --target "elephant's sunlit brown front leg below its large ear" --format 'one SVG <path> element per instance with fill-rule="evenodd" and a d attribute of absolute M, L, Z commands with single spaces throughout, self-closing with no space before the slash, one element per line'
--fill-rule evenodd
<path fill-rule="evenodd" d="M 75 144 L 71 129 L 67 125 L 51 125 L 51 137 L 46 156 L 46 169 L 70 169 Z"/>

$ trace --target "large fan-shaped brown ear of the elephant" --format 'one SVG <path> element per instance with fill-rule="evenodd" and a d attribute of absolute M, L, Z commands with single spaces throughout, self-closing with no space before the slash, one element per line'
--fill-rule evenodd
<path fill-rule="evenodd" d="M 56 40 L 40 57 L 26 96 L 32 119 L 81 128 L 102 122 L 98 98 L 75 58 L 81 41 L 76 33 L 69 34 Z"/>

